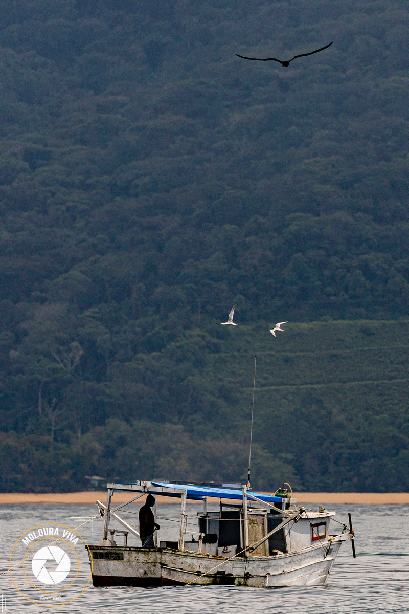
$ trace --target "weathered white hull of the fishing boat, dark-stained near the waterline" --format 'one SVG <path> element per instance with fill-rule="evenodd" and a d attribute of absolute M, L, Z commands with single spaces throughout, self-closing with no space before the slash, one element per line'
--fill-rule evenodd
<path fill-rule="evenodd" d="M 93 584 L 323 586 L 342 541 L 349 538 L 349 534 L 338 535 L 294 553 L 232 559 L 172 548 L 90 546 Z"/>

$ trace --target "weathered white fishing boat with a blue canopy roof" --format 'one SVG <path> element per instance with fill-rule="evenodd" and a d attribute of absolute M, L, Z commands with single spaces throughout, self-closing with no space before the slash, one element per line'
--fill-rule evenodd
<path fill-rule="evenodd" d="M 325 585 L 343 542 L 351 540 L 355 555 L 351 516 L 349 526 L 339 523 L 340 531 L 332 533 L 335 512 L 297 507 L 285 486 L 266 494 L 250 484 L 107 484 L 107 503 L 97 501 L 104 535 L 98 545 L 88 545 L 93 585 Z M 124 491 L 129 500 L 115 505 L 115 492 Z M 166 539 L 162 531 L 158 538 L 155 531 L 150 547 L 128 545 L 129 534 L 139 538 L 139 532 L 120 512 L 148 494 L 179 500 L 178 538 Z M 203 508 L 192 530 L 186 502 L 198 501 Z"/>

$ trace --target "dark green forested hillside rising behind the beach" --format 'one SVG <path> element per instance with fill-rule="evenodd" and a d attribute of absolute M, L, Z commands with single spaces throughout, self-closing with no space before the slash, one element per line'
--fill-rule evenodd
<path fill-rule="evenodd" d="M 0 11 L 0 489 L 407 490 L 407 4 Z"/>

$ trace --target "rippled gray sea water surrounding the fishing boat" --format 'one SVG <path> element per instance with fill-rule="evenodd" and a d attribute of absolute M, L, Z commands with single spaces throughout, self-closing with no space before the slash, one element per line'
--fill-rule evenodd
<path fill-rule="evenodd" d="M 324 501 L 323 504 L 325 505 Z M 25 580 L 22 565 L 17 565 L 13 569 L 14 583 L 10 577 L 10 553 L 20 536 L 31 527 L 55 523 L 75 529 L 86 543 L 95 544 L 99 543 L 102 537 L 102 520 L 99 517 L 89 520 L 96 514 L 96 506 L 92 505 L 0 505 L 0 609 L 1 612 L 9 614 L 409 612 L 409 506 L 327 505 L 326 507 L 336 511 L 335 519 L 345 523 L 348 522 L 348 511 L 351 512 L 356 535 L 357 558 L 353 559 L 350 543 L 344 543 L 325 587 L 94 588 L 92 582 L 86 586 L 90 566 L 85 546 L 79 543 L 76 548 L 80 572 L 72 586 L 77 586 L 83 592 L 78 596 L 75 595 L 76 598 L 66 605 L 58 604 L 58 600 L 53 602 L 52 597 L 42 601 L 40 605 L 39 593 L 34 586 L 28 585 L 28 589 L 24 589 L 25 596 L 17 590 L 19 586 L 20 588 L 23 586 L 19 583 Z M 165 532 L 167 535 L 169 532 L 177 534 L 175 520 L 178 509 L 178 505 L 174 504 L 158 505 L 162 538 Z M 132 506 L 132 510 L 137 513 L 138 507 Z M 196 516 L 196 511 L 201 511 L 201 507 L 188 506 L 188 513 L 192 517 Z M 137 524 L 136 516 L 124 514 L 123 517 L 129 524 Z M 331 527 L 331 531 L 332 529 L 334 526 Z M 118 545 L 122 543 L 121 539 L 122 537 L 118 537 Z M 139 543 L 136 538 L 132 538 L 129 545 L 139 545 Z M 13 564 L 17 559 L 16 546 L 12 554 Z M 80 590 L 77 592 L 80 593 Z M 60 598 L 58 593 L 54 596 Z"/>

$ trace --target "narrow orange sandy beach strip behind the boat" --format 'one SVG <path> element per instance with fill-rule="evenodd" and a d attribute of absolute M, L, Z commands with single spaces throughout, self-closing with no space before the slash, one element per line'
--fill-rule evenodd
<path fill-rule="evenodd" d="M 131 498 L 131 493 L 115 492 L 115 502 L 121 503 Z M 297 503 L 320 503 L 328 505 L 331 503 L 351 503 L 352 505 L 373 504 L 373 505 L 408 505 L 409 492 L 294 492 Z M 86 492 L 66 492 L 66 493 L 25 493 L 9 492 L 0 493 L 0 505 L 26 505 L 29 503 L 53 503 L 65 505 L 93 505 L 99 499 L 105 502 L 107 491 L 86 491 Z M 177 499 L 170 497 L 156 497 L 158 503 L 177 502 Z M 140 505 L 140 501 L 135 502 Z"/>

